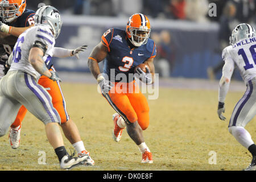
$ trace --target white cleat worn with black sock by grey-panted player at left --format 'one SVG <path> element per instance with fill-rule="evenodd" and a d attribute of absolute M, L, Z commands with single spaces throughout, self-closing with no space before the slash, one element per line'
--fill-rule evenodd
<path fill-rule="evenodd" d="M 84 162 L 86 162 L 88 158 L 87 155 L 73 157 L 74 155 L 75 155 L 75 152 L 72 155 L 69 155 L 69 154 L 65 155 L 60 161 L 60 168 L 66 169 L 66 170 L 72 169 L 73 167 L 84 164 Z"/>

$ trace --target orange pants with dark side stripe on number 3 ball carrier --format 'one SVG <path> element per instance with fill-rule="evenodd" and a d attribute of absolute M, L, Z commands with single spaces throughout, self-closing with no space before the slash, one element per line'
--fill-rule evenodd
<path fill-rule="evenodd" d="M 130 123 L 138 121 L 142 130 L 146 130 L 150 123 L 150 109 L 146 97 L 141 93 L 136 82 L 133 81 L 124 85 L 118 85 L 118 83 L 114 84 L 115 87 L 105 96 L 103 94 L 103 96 L 108 100 L 113 109 L 121 114 L 124 119 L 127 118 Z M 133 92 L 129 92 L 129 90 L 133 90 Z"/>

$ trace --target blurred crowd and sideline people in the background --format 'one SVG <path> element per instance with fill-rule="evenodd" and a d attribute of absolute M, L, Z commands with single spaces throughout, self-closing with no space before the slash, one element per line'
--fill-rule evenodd
<path fill-rule="evenodd" d="M 57 7 L 66 14 L 115 16 L 127 18 L 135 12 L 148 18 L 187 20 L 192 22 L 216 22 L 220 25 L 220 46 L 216 52 L 221 55 L 223 48 L 229 45 L 229 36 L 233 28 L 240 23 L 256 25 L 256 0 L 27 0 L 27 6 L 36 10 L 40 3 Z M 209 10 L 216 5 L 216 15 L 210 16 Z M 174 60 L 175 45 L 171 41 L 171 32 L 151 34 L 158 44 L 158 65 L 161 76 L 170 76 Z M 220 72 L 223 61 L 208 68 L 208 77 L 214 79 Z"/>

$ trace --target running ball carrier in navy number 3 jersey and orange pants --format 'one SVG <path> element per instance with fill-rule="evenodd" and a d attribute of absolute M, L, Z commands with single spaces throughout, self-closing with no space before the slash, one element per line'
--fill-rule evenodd
<path fill-rule="evenodd" d="M 150 36 L 150 21 L 143 14 L 131 15 L 126 31 L 110 28 L 101 37 L 88 59 L 92 75 L 100 85 L 102 96 L 117 112 L 113 114 L 113 139 L 121 139 L 122 130 L 127 130 L 130 138 L 142 152 L 142 163 L 152 163 L 152 153 L 144 142 L 142 130 L 149 125 L 149 107 L 146 97 L 139 90 L 133 74 L 139 64 L 146 64 L 147 73 L 141 68 L 136 71 L 141 81 L 154 82 L 154 57 L 156 46 Z M 104 73 L 101 74 L 98 63 L 105 59 Z M 130 78 L 131 75 L 131 79 Z M 121 79 L 124 78 L 125 79 Z M 119 77 L 119 78 L 118 78 Z M 120 84 L 121 83 L 121 84 Z M 122 85 L 122 86 L 119 86 Z M 131 92 L 126 92 L 127 90 Z"/>

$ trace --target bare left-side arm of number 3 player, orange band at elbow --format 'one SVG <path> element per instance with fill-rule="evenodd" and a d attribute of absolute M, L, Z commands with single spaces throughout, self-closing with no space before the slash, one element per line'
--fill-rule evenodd
<path fill-rule="evenodd" d="M 93 51 L 90 53 L 88 58 L 88 67 L 96 80 L 101 73 L 100 67 L 98 67 L 98 63 L 104 60 L 107 54 L 108 48 L 101 42 L 96 47 L 94 47 Z"/>

